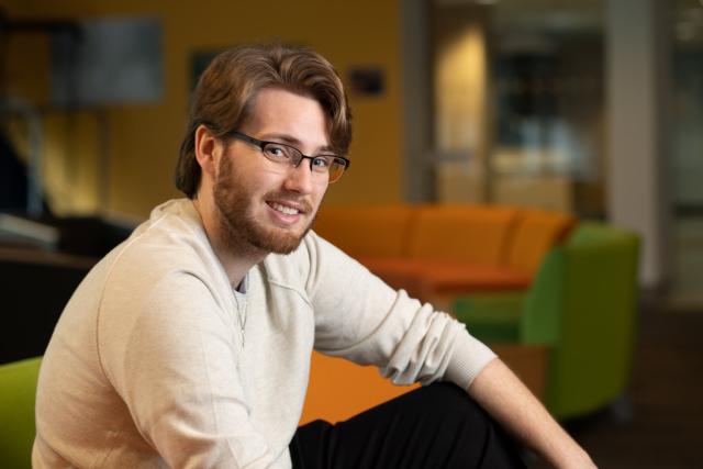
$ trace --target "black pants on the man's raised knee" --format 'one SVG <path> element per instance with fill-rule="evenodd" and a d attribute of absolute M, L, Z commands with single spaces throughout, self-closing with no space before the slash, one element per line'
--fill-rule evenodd
<path fill-rule="evenodd" d="M 499 425 L 448 383 L 421 388 L 335 425 L 303 425 L 290 451 L 294 469 L 525 467 Z"/>

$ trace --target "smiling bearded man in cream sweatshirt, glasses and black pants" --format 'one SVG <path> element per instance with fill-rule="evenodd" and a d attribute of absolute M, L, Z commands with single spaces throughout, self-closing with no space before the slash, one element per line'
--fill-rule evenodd
<path fill-rule="evenodd" d="M 212 63 L 178 161 L 188 199 L 102 259 L 54 332 L 34 467 L 522 466 L 475 401 L 555 466 L 592 466 L 462 325 L 309 231 L 350 135 L 342 82 L 314 52 Z M 297 429 L 313 348 L 454 384 Z"/>

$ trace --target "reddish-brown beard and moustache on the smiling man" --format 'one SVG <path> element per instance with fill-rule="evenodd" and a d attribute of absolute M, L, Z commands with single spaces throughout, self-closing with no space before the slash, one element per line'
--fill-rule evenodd
<path fill-rule="evenodd" d="M 277 226 L 265 226 L 255 220 L 252 213 L 252 194 L 245 189 L 244 177 L 235 171 L 231 157 L 220 159 L 217 178 L 213 188 L 215 206 L 220 212 L 220 228 L 223 242 L 234 253 L 290 254 L 302 242 L 310 231 L 314 216 L 300 232 L 292 232 Z M 290 193 L 269 192 L 264 200 L 291 200 Z M 310 202 L 295 200 L 302 204 L 306 214 L 313 213 Z"/>

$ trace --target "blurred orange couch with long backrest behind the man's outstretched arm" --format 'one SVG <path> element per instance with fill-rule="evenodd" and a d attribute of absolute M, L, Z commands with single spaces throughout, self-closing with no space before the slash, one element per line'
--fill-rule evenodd
<path fill-rule="evenodd" d="M 571 230 L 567 213 L 498 205 L 325 206 L 315 231 L 422 300 L 524 290 Z"/>

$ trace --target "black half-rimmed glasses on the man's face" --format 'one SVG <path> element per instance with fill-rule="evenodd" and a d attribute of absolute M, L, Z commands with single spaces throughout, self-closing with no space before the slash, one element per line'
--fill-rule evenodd
<path fill-rule="evenodd" d="M 350 163 L 343 156 L 332 154 L 321 154 L 315 156 L 303 155 L 302 152 L 294 146 L 279 142 L 260 141 L 237 131 L 232 131 L 228 135 L 254 146 L 258 146 L 266 159 L 281 166 L 286 165 L 297 168 L 303 159 L 310 159 L 310 170 L 313 176 L 319 178 L 326 177 L 328 183 L 338 180 L 342 175 L 344 175 L 344 171 L 349 167 Z"/>

